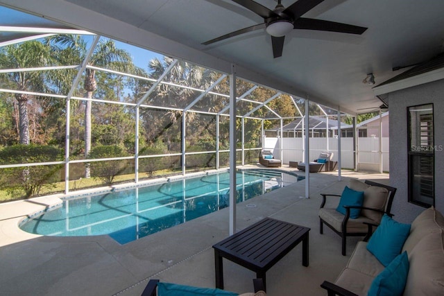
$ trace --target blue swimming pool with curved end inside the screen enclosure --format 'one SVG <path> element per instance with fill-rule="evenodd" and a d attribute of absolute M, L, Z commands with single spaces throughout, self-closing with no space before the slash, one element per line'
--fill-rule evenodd
<path fill-rule="evenodd" d="M 237 202 L 302 180 L 294 173 L 237 171 Z M 24 221 L 20 228 L 46 236 L 108 234 L 124 244 L 228 207 L 230 174 L 214 173 L 81 198 Z"/>

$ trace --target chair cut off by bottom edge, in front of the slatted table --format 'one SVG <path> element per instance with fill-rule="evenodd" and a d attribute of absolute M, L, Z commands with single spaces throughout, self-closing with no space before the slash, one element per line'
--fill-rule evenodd
<path fill-rule="evenodd" d="M 160 283 L 158 279 L 150 279 L 145 287 L 142 296 L 163 296 L 162 290 L 167 290 L 168 295 L 237 295 L 236 293 L 230 293 L 225 290 L 213 289 L 213 288 L 199 288 L 195 286 L 184 286 L 178 284 L 163 283 L 160 289 L 157 289 L 157 285 Z M 253 279 L 253 286 L 255 293 L 244 293 L 239 296 L 266 296 L 264 292 L 264 282 L 262 279 Z M 157 291 L 159 290 L 159 291 Z M 158 293 L 158 294 L 157 294 Z"/>

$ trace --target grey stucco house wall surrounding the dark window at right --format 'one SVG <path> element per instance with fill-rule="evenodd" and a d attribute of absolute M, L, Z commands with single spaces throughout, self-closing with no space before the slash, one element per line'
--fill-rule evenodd
<path fill-rule="evenodd" d="M 398 189 L 393 200 L 395 220 L 411 223 L 424 210 L 408 202 L 407 107 L 434 104 L 434 144 L 444 146 L 444 80 L 388 94 L 390 110 L 390 183 Z M 435 152 L 435 207 L 444 214 L 444 151 Z"/>

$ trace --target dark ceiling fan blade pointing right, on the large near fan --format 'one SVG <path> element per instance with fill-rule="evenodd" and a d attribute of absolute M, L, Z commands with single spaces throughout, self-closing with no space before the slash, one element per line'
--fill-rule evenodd
<path fill-rule="evenodd" d="M 338 32 L 338 33 L 349 33 L 357 35 L 361 35 L 367 30 L 367 28 L 360 26 L 336 23 L 335 21 L 324 21 L 322 19 L 306 19 L 304 17 L 300 17 L 299 19 L 296 19 L 296 21 L 294 21 L 294 28 Z"/>

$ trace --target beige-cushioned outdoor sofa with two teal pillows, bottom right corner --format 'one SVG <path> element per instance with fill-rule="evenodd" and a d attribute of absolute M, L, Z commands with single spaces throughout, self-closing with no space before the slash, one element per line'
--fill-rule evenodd
<path fill-rule="evenodd" d="M 385 217 L 390 221 L 388 216 Z M 397 223 L 395 220 L 390 222 L 386 224 L 388 226 L 384 228 L 385 231 L 379 232 L 382 235 L 379 235 L 376 229 L 368 243 L 361 241 L 357 244 L 347 265 L 334 283 L 324 281 L 321 284 L 329 296 L 375 295 L 373 293 L 375 291 L 382 292 L 382 295 L 444 295 L 443 215 L 434 207 L 426 209 L 413 220 L 407 230 L 402 223 Z M 379 227 L 383 226 L 381 224 Z M 400 239 L 402 231 L 393 231 L 397 227 L 404 229 L 404 243 Z M 382 241 L 384 232 L 391 234 L 387 237 L 393 239 Z M 373 239 L 377 241 L 372 242 Z M 382 252 L 384 250 L 395 252 L 395 245 L 398 244 L 399 252 L 395 254 L 399 255 L 388 262 L 380 251 L 373 248 L 371 248 L 373 252 L 368 250 L 370 243 L 379 246 Z M 373 253 L 377 254 L 379 259 Z M 382 260 L 386 266 L 379 260 Z M 368 294 L 369 290 L 371 293 Z"/>

